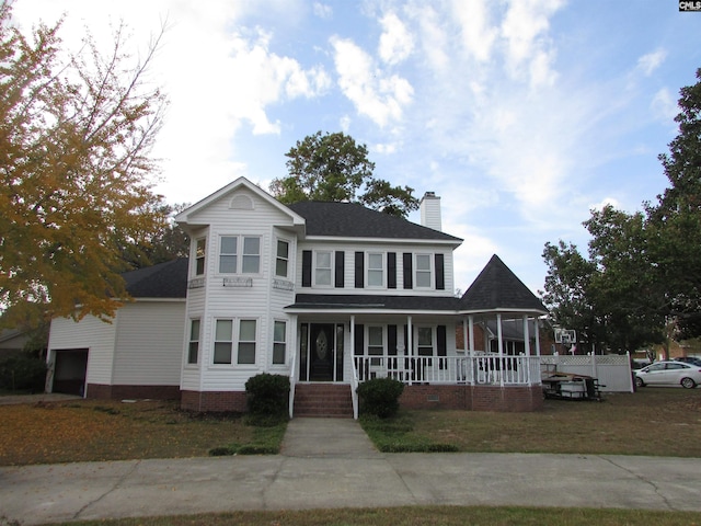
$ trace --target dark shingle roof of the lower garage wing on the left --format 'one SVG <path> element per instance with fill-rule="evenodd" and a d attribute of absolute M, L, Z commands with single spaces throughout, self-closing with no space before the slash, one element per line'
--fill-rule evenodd
<path fill-rule="evenodd" d="M 125 272 L 122 277 L 134 298 L 184 298 L 187 294 L 187 258 Z"/>

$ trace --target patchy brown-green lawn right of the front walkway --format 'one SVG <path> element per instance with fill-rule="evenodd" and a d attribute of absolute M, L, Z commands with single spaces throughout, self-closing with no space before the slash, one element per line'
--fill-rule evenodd
<path fill-rule="evenodd" d="M 542 411 L 401 411 L 361 419 L 383 451 L 573 453 L 701 457 L 701 389 L 644 388 L 604 402 L 545 400 Z"/>

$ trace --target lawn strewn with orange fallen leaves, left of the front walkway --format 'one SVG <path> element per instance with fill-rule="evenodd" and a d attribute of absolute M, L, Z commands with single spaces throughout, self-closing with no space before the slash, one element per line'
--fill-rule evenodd
<path fill-rule="evenodd" d="M 277 451 L 286 427 L 187 413 L 172 401 L 0 405 L 0 466 Z"/>

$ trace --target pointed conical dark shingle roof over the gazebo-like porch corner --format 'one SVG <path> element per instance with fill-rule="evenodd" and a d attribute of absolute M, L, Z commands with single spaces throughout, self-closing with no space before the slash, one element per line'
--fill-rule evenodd
<path fill-rule="evenodd" d="M 540 311 L 548 309 L 516 274 L 494 254 L 460 299 L 460 310 Z"/>

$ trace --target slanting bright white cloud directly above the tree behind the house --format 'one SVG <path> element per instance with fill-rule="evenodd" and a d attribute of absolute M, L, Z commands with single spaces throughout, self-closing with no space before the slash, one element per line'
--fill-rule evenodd
<path fill-rule="evenodd" d="M 380 127 L 401 121 L 414 93 L 409 81 L 398 75 L 386 76 L 372 57 L 350 39 L 333 36 L 331 45 L 338 85 L 356 111 Z"/>

